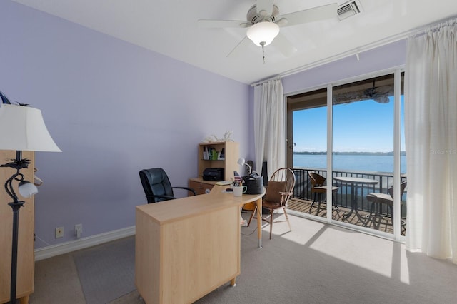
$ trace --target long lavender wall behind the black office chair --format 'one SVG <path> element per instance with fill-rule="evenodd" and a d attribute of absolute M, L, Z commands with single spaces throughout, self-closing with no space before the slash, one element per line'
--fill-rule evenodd
<path fill-rule="evenodd" d="M 0 91 L 40 108 L 63 151 L 36 153 L 36 248 L 74 240 L 77 223 L 84 237 L 134 226 L 138 172 L 160 166 L 185 186 L 212 133 L 233 130 L 248 155 L 246 84 L 11 1 L 0 37 Z"/>

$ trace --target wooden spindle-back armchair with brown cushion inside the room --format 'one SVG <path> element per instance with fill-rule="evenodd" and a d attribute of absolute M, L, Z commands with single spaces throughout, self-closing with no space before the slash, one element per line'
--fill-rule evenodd
<path fill-rule="evenodd" d="M 273 231 L 273 223 L 284 222 L 274 221 L 273 211 L 275 210 L 283 209 L 288 229 L 292 230 L 291 223 L 288 221 L 286 208 L 288 199 L 293 195 L 293 186 L 295 186 L 295 173 L 289 168 L 279 168 L 273 173 L 270 181 L 268 181 L 268 187 L 266 187 L 266 193 L 262 199 L 262 208 L 269 211 L 270 217 L 268 219 L 262 218 L 262 221 L 266 221 L 270 224 L 270 240 L 271 232 Z M 248 226 L 251 224 L 252 218 L 256 218 L 254 216 L 256 211 L 257 206 L 251 213 Z"/>

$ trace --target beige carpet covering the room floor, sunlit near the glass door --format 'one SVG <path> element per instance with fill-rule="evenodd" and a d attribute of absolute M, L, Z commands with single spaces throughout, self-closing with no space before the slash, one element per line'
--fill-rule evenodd
<path fill-rule="evenodd" d="M 237 285 L 227 283 L 196 303 L 456 303 L 457 265 L 408 253 L 390 240 L 290 218 L 293 231 L 277 223 L 272 240 L 264 228 L 262 249 L 255 222 L 242 228 Z M 36 263 L 31 303 L 84 303 L 71 259 Z M 144 302 L 131 290 L 110 303 Z"/>

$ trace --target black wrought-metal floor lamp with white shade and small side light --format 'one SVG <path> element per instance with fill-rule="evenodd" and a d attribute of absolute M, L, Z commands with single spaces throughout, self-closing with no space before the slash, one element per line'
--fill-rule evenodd
<path fill-rule="evenodd" d="M 29 181 L 25 181 L 24 175 L 20 172 L 21 169 L 28 168 L 30 163 L 28 159 L 22 158 L 22 151 L 61 152 L 61 150 L 49 135 L 39 109 L 21 103 L 18 105 L 11 104 L 3 93 L 0 93 L 0 98 L 2 101 L 0 106 L 0 129 L 4 130 L 0 137 L 0 149 L 16 151 L 15 159 L 11 159 L 11 162 L 0 166 L 16 170 L 11 178 L 6 180 L 4 186 L 6 193 L 12 200 L 8 204 L 13 209 L 10 304 L 15 304 L 19 208 L 24 206 L 25 202 L 19 201 L 13 188 L 13 182 L 19 181 L 19 194 L 21 196 L 29 197 L 38 192 L 36 186 Z"/>

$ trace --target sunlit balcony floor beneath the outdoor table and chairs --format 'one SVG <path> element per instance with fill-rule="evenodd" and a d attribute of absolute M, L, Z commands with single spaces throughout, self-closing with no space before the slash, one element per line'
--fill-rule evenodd
<path fill-rule="evenodd" d="M 301 200 L 298 198 L 291 198 L 288 201 L 288 209 L 293 210 L 293 211 L 298 211 L 302 213 L 308 213 L 308 214 L 313 214 L 314 216 L 321 216 L 321 217 L 326 217 L 327 216 L 327 206 L 325 203 L 321 203 L 321 210 L 319 211 L 318 214 L 318 204 L 314 203 L 314 206 L 311 207 L 312 201 L 306 201 L 306 200 Z M 341 221 L 345 223 L 351 223 L 356 226 L 364 226 L 365 223 L 363 223 L 355 213 L 352 213 L 351 216 L 348 218 L 343 218 L 343 216 L 350 211 L 350 208 L 344 208 L 344 207 L 338 207 L 337 209 L 333 209 L 333 220 L 336 221 Z M 368 216 L 370 213 L 366 211 L 358 211 L 360 213 L 361 218 L 363 220 L 366 220 L 366 216 Z M 366 225 L 368 228 L 373 228 L 376 230 L 380 230 L 386 233 L 393 233 L 393 226 L 391 223 L 391 218 L 390 217 L 381 217 L 376 219 L 376 226 L 373 225 L 372 221 L 369 221 L 368 224 Z M 403 231 L 402 235 L 404 235 L 404 227 L 403 226 Z"/>

